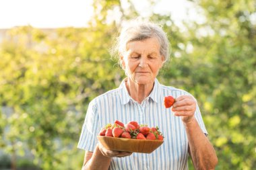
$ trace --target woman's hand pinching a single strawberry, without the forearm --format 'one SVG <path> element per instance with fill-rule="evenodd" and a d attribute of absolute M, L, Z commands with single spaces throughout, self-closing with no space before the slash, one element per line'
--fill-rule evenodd
<path fill-rule="evenodd" d="M 175 116 L 182 116 L 184 123 L 187 123 L 193 118 L 196 109 L 196 101 L 191 95 L 181 95 L 175 98 L 175 103 L 172 105 L 172 112 Z"/>

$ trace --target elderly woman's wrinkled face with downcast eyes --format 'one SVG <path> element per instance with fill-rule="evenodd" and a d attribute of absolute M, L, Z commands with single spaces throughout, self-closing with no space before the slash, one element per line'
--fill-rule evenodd
<path fill-rule="evenodd" d="M 154 83 L 163 62 L 157 38 L 129 42 L 125 54 L 121 56 L 127 77 L 138 84 Z"/>

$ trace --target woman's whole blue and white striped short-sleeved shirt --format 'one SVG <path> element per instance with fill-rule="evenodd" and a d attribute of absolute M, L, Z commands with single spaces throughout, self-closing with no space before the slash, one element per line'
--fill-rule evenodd
<path fill-rule="evenodd" d="M 129 157 L 113 158 L 109 169 L 188 169 L 188 139 L 181 117 L 174 116 L 171 109 L 164 108 L 164 96 L 191 95 L 174 87 L 161 85 L 157 79 L 154 89 L 139 104 L 133 100 L 125 87 L 125 81 L 119 88 L 110 90 L 95 99 L 88 107 L 78 148 L 94 151 L 97 134 L 106 124 L 119 120 L 126 124 L 137 121 L 139 124 L 158 126 L 164 135 L 164 143 L 150 154 L 133 153 Z M 197 105 L 195 118 L 201 130 L 207 134 L 201 113 Z"/>

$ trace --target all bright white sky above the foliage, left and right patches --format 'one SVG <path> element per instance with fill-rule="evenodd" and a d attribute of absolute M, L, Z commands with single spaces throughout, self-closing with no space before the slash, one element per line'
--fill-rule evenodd
<path fill-rule="evenodd" d="M 36 28 L 84 27 L 92 16 L 92 1 L 1 0 L 0 28 L 26 25 Z M 188 17 L 196 18 L 195 11 L 186 15 L 188 11 L 191 11 L 191 3 L 186 0 L 160 0 L 155 7 L 147 5 L 147 0 L 133 1 L 137 10 L 141 11 L 141 15 L 147 15 L 147 11 L 171 13 L 177 22 Z"/>

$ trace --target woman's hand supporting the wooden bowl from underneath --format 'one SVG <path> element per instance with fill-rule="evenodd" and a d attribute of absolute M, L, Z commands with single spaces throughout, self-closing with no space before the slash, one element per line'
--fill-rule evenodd
<path fill-rule="evenodd" d="M 123 152 L 123 151 L 110 151 L 107 148 L 105 148 L 100 142 L 98 142 L 98 148 L 102 155 L 105 157 L 113 158 L 113 157 L 127 157 L 130 156 L 132 153 L 130 152 Z"/>

